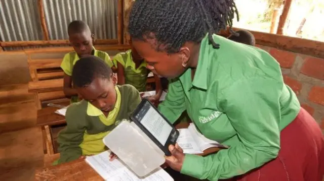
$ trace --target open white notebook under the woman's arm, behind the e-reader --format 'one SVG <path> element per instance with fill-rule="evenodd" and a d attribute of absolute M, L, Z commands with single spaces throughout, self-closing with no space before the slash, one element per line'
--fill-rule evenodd
<path fill-rule="evenodd" d="M 221 145 L 201 135 L 193 123 L 190 123 L 189 127 L 186 129 L 178 130 L 180 135 L 177 143 L 183 149 L 184 153 L 199 154 L 212 147 L 228 148 L 227 146 Z"/>

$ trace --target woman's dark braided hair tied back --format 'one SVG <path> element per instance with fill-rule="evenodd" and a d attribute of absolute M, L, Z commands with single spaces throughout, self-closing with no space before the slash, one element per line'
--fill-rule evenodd
<path fill-rule="evenodd" d="M 178 52 L 185 42 L 199 43 L 208 33 L 210 43 L 219 48 L 213 34 L 231 27 L 238 12 L 234 0 L 136 0 L 129 16 L 133 39 L 156 39 L 156 50 Z"/>

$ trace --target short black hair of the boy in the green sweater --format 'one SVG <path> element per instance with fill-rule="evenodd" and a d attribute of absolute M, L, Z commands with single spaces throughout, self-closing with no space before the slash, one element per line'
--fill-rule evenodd
<path fill-rule="evenodd" d="M 97 56 L 86 56 L 80 58 L 74 65 L 72 71 L 72 82 L 76 87 L 87 87 L 97 78 L 110 80 L 112 70 Z"/>

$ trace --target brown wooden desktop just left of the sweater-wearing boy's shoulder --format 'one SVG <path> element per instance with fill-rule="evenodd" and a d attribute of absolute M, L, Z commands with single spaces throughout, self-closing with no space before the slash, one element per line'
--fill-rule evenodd
<path fill-rule="evenodd" d="M 55 113 L 57 107 L 45 107 L 37 110 L 36 126 L 56 126 L 66 124 L 65 116 Z"/>

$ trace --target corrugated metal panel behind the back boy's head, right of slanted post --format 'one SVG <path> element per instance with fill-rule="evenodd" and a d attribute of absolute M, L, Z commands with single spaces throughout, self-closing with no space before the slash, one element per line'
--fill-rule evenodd
<path fill-rule="evenodd" d="M 117 38 L 117 0 L 43 0 L 50 39 L 68 39 L 67 25 L 83 20 L 99 39 Z"/>

